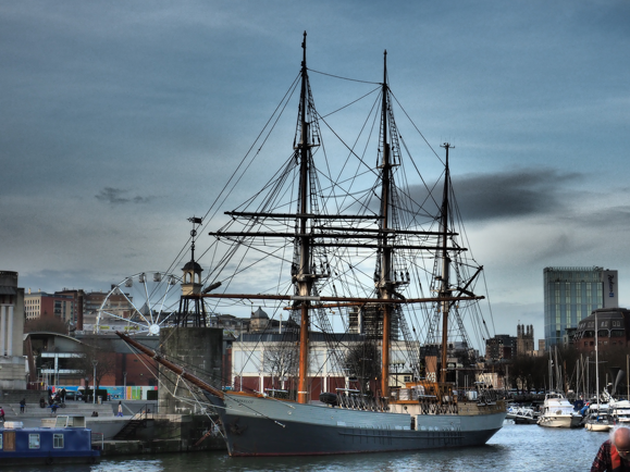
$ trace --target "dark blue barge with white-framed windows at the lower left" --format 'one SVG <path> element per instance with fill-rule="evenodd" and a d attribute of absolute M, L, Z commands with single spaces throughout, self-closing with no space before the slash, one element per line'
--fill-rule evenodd
<path fill-rule="evenodd" d="M 91 431 L 85 418 L 74 417 L 71 425 L 22 427 L 4 423 L 0 427 L 0 468 L 16 464 L 96 463 L 100 452 L 91 447 Z"/>

